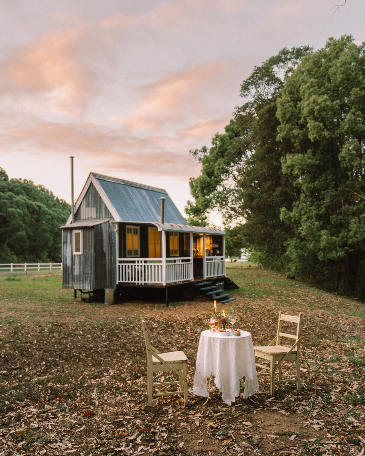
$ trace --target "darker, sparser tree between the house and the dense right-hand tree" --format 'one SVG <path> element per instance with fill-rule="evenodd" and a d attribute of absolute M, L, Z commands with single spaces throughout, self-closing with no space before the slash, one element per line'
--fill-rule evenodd
<path fill-rule="evenodd" d="M 218 209 L 226 225 L 238 225 L 240 247 L 261 251 L 267 263 L 282 266 L 284 243 L 292 228 L 280 220 L 296 199 L 291 179 L 282 173 L 287 141 L 277 141 L 276 99 L 307 53 L 308 46 L 282 49 L 255 67 L 241 85 L 249 101 L 235 110 L 225 133 L 214 135 L 212 147 L 190 151 L 202 164 L 200 176 L 190 179 L 195 202 L 185 211 L 192 223 L 208 223 L 207 212 Z"/>

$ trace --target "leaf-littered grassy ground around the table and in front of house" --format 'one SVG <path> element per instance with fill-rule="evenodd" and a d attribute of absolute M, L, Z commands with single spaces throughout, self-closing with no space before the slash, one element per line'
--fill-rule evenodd
<path fill-rule="evenodd" d="M 328 454 L 360 453 L 364 304 L 263 269 L 228 264 L 227 275 L 240 286 L 229 292 L 237 298 L 235 326 L 249 331 L 254 345 L 274 337 L 279 310 L 302 312 L 301 394 L 286 384 L 271 399 L 265 380 L 254 402 L 237 398 L 226 406 L 215 388 L 205 406 L 193 396 L 194 357 L 212 306 L 206 298 L 170 308 L 105 306 L 74 301 L 57 274 L 0 276 L 0 455 L 205 456 L 244 449 L 276 456 L 298 452 L 316 436 L 332 442 Z M 147 407 L 140 316 L 157 348 L 187 354 L 188 407 L 176 396 Z"/>

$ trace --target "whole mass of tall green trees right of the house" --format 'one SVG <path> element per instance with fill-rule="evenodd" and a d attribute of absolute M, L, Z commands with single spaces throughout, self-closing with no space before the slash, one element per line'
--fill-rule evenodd
<path fill-rule="evenodd" d="M 267 265 L 363 294 L 364 76 L 352 36 L 255 67 L 225 132 L 191 151 L 202 169 L 190 179 L 190 222 L 218 209 Z"/>

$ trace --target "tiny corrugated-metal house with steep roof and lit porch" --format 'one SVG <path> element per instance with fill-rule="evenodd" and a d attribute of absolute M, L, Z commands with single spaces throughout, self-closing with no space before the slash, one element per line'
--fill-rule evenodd
<path fill-rule="evenodd" d="M 90 173 L 61 228 L 63 288 L 160 287 L 168 300 L 225 278 L 226 233 L 188 225 L 161 188 Z"/>

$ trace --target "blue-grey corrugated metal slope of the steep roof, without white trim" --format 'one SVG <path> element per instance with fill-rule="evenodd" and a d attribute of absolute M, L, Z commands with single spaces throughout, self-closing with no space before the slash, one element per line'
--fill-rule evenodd
<path fill-rule="evenodd" d="M 132 187 L 102 179 L 97 179 L 97 181 L 118 212 L 120 220 L 125 222 L 158 222 L 161 207 L 159 198 L 165 197 L 165 223 L 187 224 L 185 218 L 165 192 Z"/>

